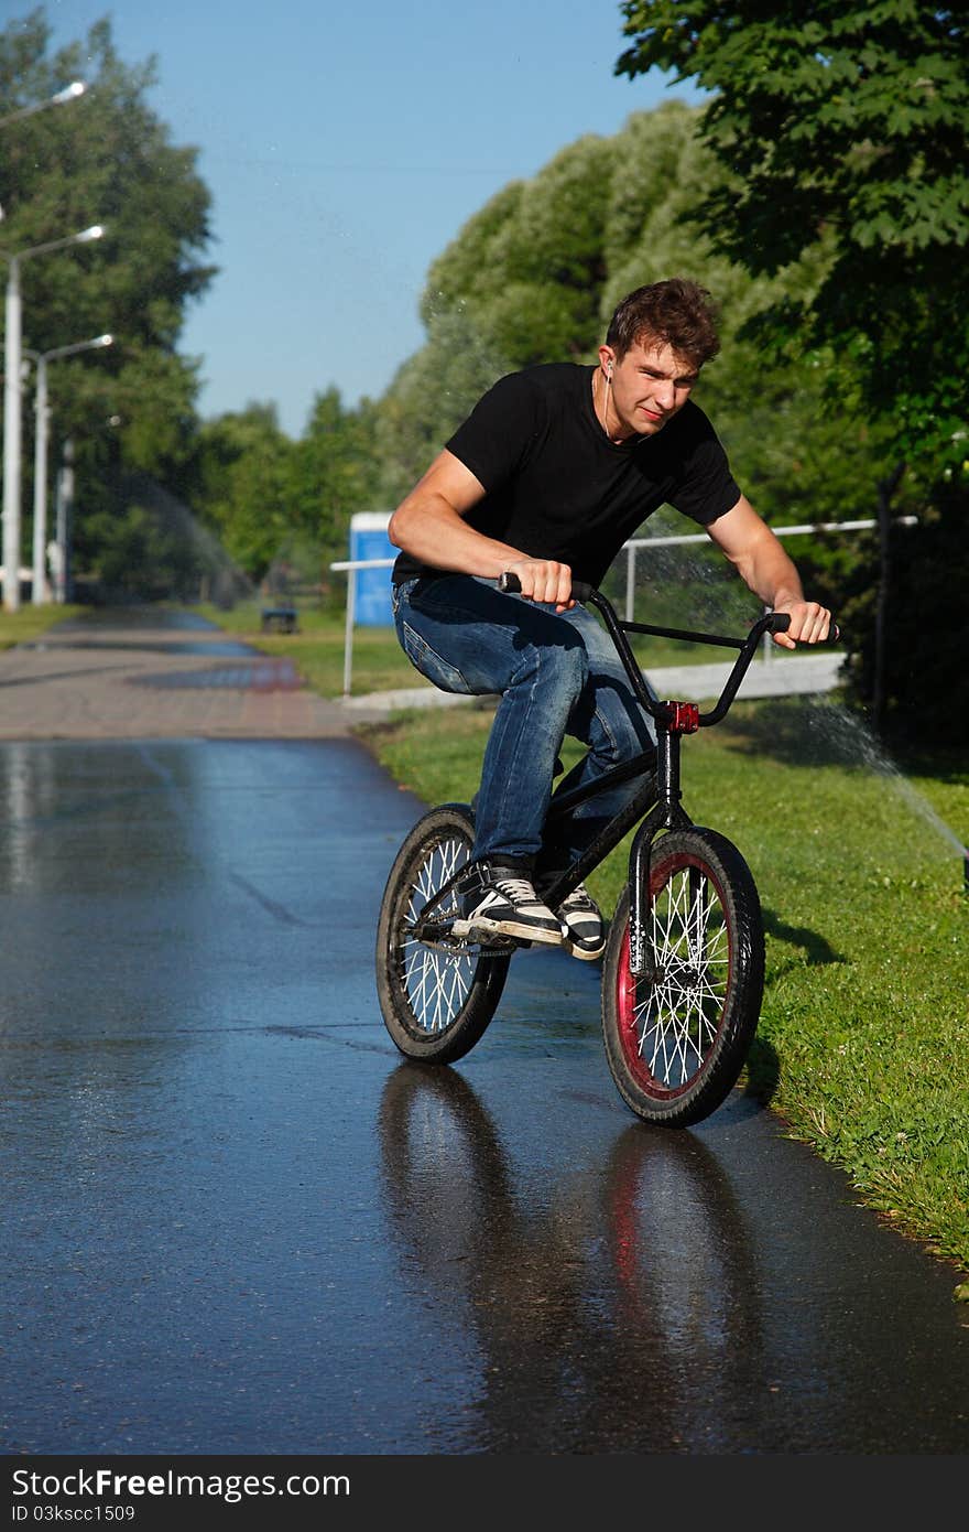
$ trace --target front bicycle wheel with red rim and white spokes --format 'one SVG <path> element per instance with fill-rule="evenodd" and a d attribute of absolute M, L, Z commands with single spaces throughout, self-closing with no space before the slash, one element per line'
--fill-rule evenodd
<path fill-rule="evenodd" d="M 657 840 L 648 921 L 655 968 L 637 979 L 625 890 L 603 961 L 606 1059 L 637 1117 L 687 1128 L 736 1085 L 761 1014 L 761 901 L 736 846 L 700 827 Z"/>

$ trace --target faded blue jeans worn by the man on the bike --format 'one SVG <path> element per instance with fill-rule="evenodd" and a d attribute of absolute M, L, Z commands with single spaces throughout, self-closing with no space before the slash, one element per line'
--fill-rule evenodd
<path fill-rule="evenodd" d="M 557 613 L 505 596 L 471 574 L 413 579 L 393 593 L 396 636 L 412 665 L 442 691 L 501 700 L 475 806 L 475 858 L 527 870 L 562 870 L 629 803 L 640 780 L 579 804 L 545 846 L 542 830 L 556 757 L 568 734 L 588 746 L 569 772 L 585 786 L 655 745 L 599 617 L 585 607 Z"/>

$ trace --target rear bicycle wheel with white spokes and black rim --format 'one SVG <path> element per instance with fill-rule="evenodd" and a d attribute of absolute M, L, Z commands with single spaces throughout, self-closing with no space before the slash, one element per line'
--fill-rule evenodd
<path fill-rule="evenodd" d="M 416 935 L 426 905 L 468 861 L 475 817 L 462 803 L 432 809 L 413 826 L 390 869 L 377 928 L 377 993 L 384 1025 L 403 1054 L 427 1063 L 462 1059 L 494 1016 L 507 953 L 447 935 L 458 899 L 449 893 L 433 928 Z"/>

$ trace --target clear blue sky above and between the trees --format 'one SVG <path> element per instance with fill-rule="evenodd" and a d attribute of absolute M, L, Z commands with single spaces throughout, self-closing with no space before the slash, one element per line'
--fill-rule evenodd
<path fill-rule="evenodd" d="M 615 0 L 44 9 L 55 46 L 109 15 L 127 64 L 156 57 L 150 103 L 175 144 L 197 146 L 213 193 L 220 271 L 181 342 L 202 358 L 199 408 L 272 400 L 294 437 L 317 392 L 377 397 L 419 348 L 427 268 L 494 192 L 583 133 L 697 100 L 660 75 L 614 77 Z"/>

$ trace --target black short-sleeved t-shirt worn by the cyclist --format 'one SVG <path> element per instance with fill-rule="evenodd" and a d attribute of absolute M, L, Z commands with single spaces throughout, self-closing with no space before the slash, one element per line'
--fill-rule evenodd
<path fill-rule="evenodd" d="M 447 443 L 485 496 L 468 525 L 599 585 L 623 542 L 663 504 L 701 525 L 741 492 L 704 412 L 690 401 L 655 437 L 615 446 L 592 408 L 592 368 L 571 362 L 501 378 Z M 441 574 L 401 553 L 393 579 Z"/>

